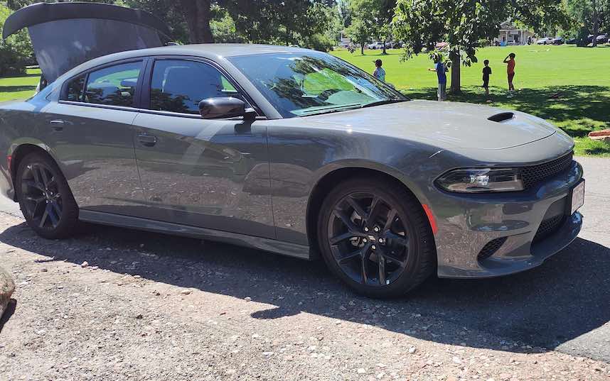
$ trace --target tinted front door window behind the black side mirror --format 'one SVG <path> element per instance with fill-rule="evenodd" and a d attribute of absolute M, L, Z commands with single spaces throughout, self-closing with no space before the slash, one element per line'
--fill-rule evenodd
<path fill-rule="evenodd" d="M 240 97 L 215 67 L 202 62 L 159 60 L 151 82 L 151 110 L 199 114 L 199 102 L 217 96 Z"/>

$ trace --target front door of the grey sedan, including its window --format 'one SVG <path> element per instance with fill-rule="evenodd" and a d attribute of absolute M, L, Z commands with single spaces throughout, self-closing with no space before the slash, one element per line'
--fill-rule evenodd
<path fill-rule="evenodd" d="M 212 65 L 166 59 L 151 70 L 149 112 L 134 121 L 147 217 L 274 238 L 267 128 L 200 118 L 202 99 L 242 97 Z"/>

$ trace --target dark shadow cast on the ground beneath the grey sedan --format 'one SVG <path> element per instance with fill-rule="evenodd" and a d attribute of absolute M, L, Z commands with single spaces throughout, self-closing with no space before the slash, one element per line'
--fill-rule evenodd
<path fill-rule="evenodd" d="M 390 301 L 359 297 L 321 261 L 192 238 L 88 226 L 77 238 L 45 241 L 22 223 L 0 233 L 0 241 L 46 256 L 41 263 L 87 260 L 117 274 L 275 306 L 253 313 L 255 319 L 304 311 L 473 348 L 555 348 L 610 320 L 610 248 L 580 238 L 529 272 L 489 280 L 432 277 Z M 481 331 L 503 341 L 490 342 Z"/>

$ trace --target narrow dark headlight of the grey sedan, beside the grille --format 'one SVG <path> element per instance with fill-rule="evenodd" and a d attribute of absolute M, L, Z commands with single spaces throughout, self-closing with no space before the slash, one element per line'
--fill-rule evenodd
<path fill-rule="evenodd" d="M 437 185 L 449 192 L 516 192 L 525 189 L 516 168 L 452 170 L 439 177 Z"/>

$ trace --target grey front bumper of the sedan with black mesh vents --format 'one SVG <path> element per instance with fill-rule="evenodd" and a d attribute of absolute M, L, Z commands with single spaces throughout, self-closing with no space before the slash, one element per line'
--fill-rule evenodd
<path fill-rule="evenodd" d="M 439 277 L 498 277 L 541 265 L 578 236 L 582 215 L 570 216 L 569 207 L 572 189 L 582 176 L 582 167 L 572 162 L 569 171 L 525 192 L 435 191 L 431 204 L 439 228 L 435 236 Z M 543 221 L 552 217 L 560 222 L 541 235 Z M 492 241 L 501 243 L 499 248 L 491 255 L 480 255 Z"/>

